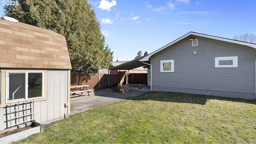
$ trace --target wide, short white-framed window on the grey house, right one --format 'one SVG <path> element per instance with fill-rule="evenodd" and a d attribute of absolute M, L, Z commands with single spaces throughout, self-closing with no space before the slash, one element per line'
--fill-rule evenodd
<path fill-rule="evenodd" d="M 216 57 L 215 68 L 237 68 L 238 56 Z"/>

